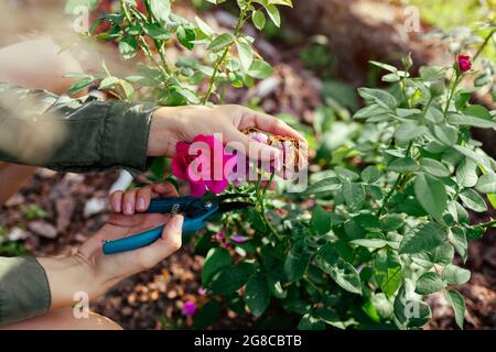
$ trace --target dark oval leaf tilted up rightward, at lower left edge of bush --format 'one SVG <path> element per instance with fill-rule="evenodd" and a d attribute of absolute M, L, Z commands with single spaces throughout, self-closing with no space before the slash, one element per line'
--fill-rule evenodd
<path fill-rule="evenodd" d="M 252 264 L 246 262 L 223 267 L 209 283 L 212 294 L 220 296 L 234 294 L 246 284 L 252 272 Z"/>

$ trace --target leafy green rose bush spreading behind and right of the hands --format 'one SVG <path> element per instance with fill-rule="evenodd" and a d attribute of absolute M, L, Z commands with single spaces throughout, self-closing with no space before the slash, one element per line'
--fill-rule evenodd
<path fill-rule="evenodd" d="M 80 77 L 71 91 L 97 82 L 120 99 L 170 106 L 208 103 L 214 96 L 223 101 L 226 85 L 252 86 L 272 69 L 254 52 L 254 38 L 242 34 L 242 26 L 250 20 L 261 30 L 267 18 L 279 26 L 277 7 L 291 1 L 237 4 L 233 32 L 218 33 L 200 18 L 191 23 L 179 16 L 169 0 L 144 0 L 145 11 L 141 2 L 121 0 L 88 35 L 107 21 L 110 25 L 96 38 L 118 43 L 125 58 L 138 62 L 138 73 L 116 77 L 104 66 L 103 74 Z M 483 46 L 495 24 L 485 31 Z M 172 43 L 184 52 L 203 47 L 206 54 L 184 54 L 170 63 Z M 211 326 L 228 308 L 256 317 L 259 328 L 417 329 L 431 318 L 425 296 L 436 292 L 444 293 L 463 327 L 465 302 L 456 286 L 471 273 L 454 260 L 465 262 L 467 241 L 495 226 L 472 223 L 470 211 L 486 211 L 486 199 L 496 205 L 496 163 L 471 138 L 473 127 L 496 129 L 495 113 L 471 103 L 476 88 L 464 86 L 482 53 L 477 47 L 471 57 L 474 43 L 463 46 L 464 54 L 459 47 L 450 67 L 423 67 L 419 75 L 411 72 L 409 56 L 401 68 L 371 62 L 385 72 L 388 86 L 358 90 L 365 107 L 354 114 L 355 122 L 334 121 L 320 111 L 313 168 L 320 170 L 304 193 L 285 193 L 282 182 L 278 194 L 260 180 L 239 186 L 227 186 L 226 179 L 198 182 L 186 172 L 193 162 L 182 152 L 186 145 L 179 145 L 172 170 L 194 186 L 193 194 L 227 186 L 230 193 L 250 194 L 256 205 L 226 215 L 194 239 L 196 253 L 205 255 L 204 289 L 201 307 L 188 302 L 183 314 L 194 315 L 196 328 Z M 486 73 L 485 84 L 494 84 L 494 72 Z M 336 128 L 349 133 L 328 143 L 338 136 Z M 263 135 L 255 138 L 266 142 Z M 163 169 L 158 160 L 155 178 L 164 176 Z M 271 169 L 258 172 L 273 177 Z"/>

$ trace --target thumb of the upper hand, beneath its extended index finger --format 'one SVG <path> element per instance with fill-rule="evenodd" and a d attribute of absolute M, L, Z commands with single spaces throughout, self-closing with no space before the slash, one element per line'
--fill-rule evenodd
<path fill-rule="evenodd" d="M 244 151 L 239 152 L 242 152 L 252 161 L 270 162 L 282 158 L 282 152 L 277 147 L 254 141 L 237 129 L 229 129 L 225 139 L 226 143 L 240 143 Z"/>

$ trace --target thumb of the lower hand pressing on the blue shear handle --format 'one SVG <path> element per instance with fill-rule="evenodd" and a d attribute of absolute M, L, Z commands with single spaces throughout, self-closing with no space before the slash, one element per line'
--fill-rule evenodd
<path fill-rule="evenodd" d="M 181 215 L 171 217 L 163 229 L 162 237 L 151 245 L 138 251 L 141 264 L 145 268 L 153 267 L 181 248 L 183 222 L 184 218 Z"/>

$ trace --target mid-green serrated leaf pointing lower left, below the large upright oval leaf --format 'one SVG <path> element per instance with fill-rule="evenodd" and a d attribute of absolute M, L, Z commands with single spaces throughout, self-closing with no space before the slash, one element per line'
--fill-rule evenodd
<path fill-rule="evenodd" d="M 411 232 L 402 239 L 400 254 L 412 254 L 432 250 L 442 244 L 446 233 L 434 222 L 423 224 L 418 231 Z"/>

